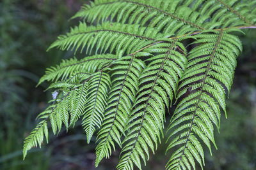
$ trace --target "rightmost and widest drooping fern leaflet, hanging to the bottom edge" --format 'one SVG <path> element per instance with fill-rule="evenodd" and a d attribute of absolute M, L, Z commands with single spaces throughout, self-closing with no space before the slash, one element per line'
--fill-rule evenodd
<path fill-rule="evenodd" d="M 195 160 L 204 165 L 201 140 L 211 152 L 214 128 L 220 126 L 220 107 L 225 111 L 226 90 L 230 90 L 236 57 L 241 43 L 236 36 L 221 30 L 195 36 L 196 46 L 189 52 L 188 65 L 179 85 L 178 103 L 168 131 L 168 150 L 172 154 L 166 169 L 195 169 Z"/>

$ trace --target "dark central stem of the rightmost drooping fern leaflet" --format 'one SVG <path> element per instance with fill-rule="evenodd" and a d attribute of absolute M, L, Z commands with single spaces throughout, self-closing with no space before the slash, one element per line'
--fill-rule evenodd
<path fill-rule="evenodd" d="M 185 149 L 186 149 L 186 147 L 187 147 L 187 145 L 188 145 L 189 134 L 191 133 L 192 126 L 193 126 L 193 122 L 194 122 L 194 119 L 195 119 L 195 116 L 196 116 L 196 110 L 197 110 L 197 108 L 198 108 L 198 104 L 199 104 L 199 102 L 200 102 L 200 99 L 201 99 L 201 96 L 202 96 L 202 93 L 203 93 L 203 88 L 204 88 L 204 85 L 205 85 L 205 80 L 206 80 L 206 77 L 207 77 L 209 68 L 210 68 L 210 66 L 211 66 L 212 59 L 213 59 L 214 54 L 215 54 L 215 52 L 216 52 L 216 49 L 218 48 L 218 45 L 219 45 L 219 43 L 220 43 L 220 39 L 221 39 L 222 33 L 223 33 L 223 29 L 221 29 L 221 31 L 220 31 L 220 36 L 219 36 L 219 38 L 218 38 L 218 41 L 216 42 L 216 45 L 215 45 L 215 47 L 214 47 L 214 50 L 213 50 L 212 54 L 211 54 L 211 58 L 210 58 L 210 60 L 209 60 L 209 62 L 208 62 L 208 66 L 207 66 L 207 69 L 206 69 L 205 74 L 204 74 L 204 79 L 202 80 L 203 83 L 202 83 L 202 85 L 201 85 L 200 94 L 199 94 L 199 96 L 198 96 L 198 101 L 197 101 L 197 103 L 196 103 L 196 108 L 195 108 L 195 111 L 194 111 L 194 113 L 193 113 L 193 117 L 192 117 L 192 119 L 191 119 L 191 124 L 190 124 L 190 127 L 189 127 L 188 137 L 187 137 L 187 139 L 186 139 L 186 142 L 185 142 L 185 145 L 184 145 L 184 149 L 182 150 L 182 153 L 181 153 L 181 155 L 180 155 L 179 163 L 178 163 L 178 165 L 177 165 L 178 167 L 180 166 L 180 160 L 182 160 L 182 156 L 184 155 Z"/>

